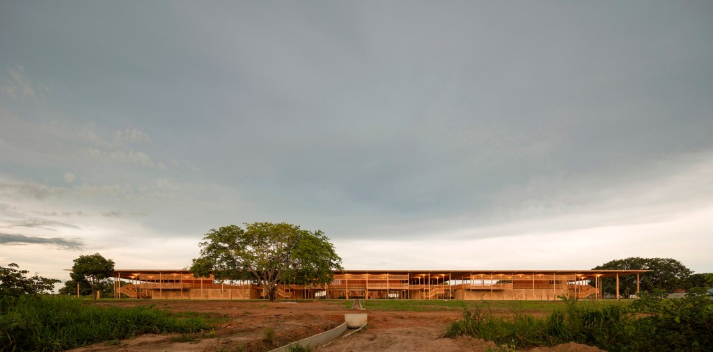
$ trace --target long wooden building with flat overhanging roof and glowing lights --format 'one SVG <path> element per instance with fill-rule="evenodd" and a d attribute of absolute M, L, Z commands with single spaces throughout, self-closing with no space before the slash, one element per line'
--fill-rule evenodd
<path fill-rule="evenodd" d="M 344 270 L 329 285 L 282 284 L 278 299 L 600 299 L 601 279 L 649 270 Z M 114 296 L 142 299 L 261 299 L 252 281 L 197 278 L 188 270 L 116 270 Z M 637 293 L 639 291 L 637 284 Z M 617 298 L 620 296 L 616 295 Z"/>

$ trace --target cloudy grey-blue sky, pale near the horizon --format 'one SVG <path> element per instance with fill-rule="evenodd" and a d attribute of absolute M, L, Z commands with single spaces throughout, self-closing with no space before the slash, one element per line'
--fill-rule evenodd
<path fill-rule="evenodd" d="M 711 1 L 0 0 L 0 265 L 713 271 Z"/>

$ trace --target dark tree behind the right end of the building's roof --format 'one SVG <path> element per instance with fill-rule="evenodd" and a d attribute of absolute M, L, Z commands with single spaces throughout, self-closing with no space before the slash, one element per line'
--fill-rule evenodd
<path fill-rule="evenodd" d="M 663 289 L 673 292 L 677 289 L 684 289 L 685 279 L 693 271 L 684 264 L 671 258 L 640 258 L 631 257 L 626 259 L 616 259 L 611 262 L 596 266 L 594 270 L 652 270 L 640 275 L 641 291 L 651 291 L 652 289 Z M 619 278 L 620 294 L 625 297 L 636 293 L 636 276 L 627 275 Z M 607 294 L 616 293 L 616 279 L 602 279 L 602 291 Z"/>

